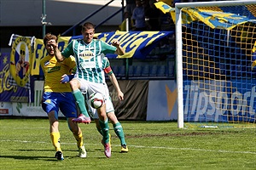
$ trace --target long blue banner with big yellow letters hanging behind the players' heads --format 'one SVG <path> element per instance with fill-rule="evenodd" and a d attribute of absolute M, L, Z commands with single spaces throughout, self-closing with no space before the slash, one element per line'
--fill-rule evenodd
<path fill-rule="evenodd" d="M 171 36 L 174 31 L 113 31 L 96 33 L 95 37 L 103 42 L 111 43 L 113 40 L 119 40 L 122 48 L 125 49 L 125 55 L 117 56 L 116 54 L 107 54 L 108 58 L 136 58 L 145 59 L 148 53 L 157 45 L 157 42 L 164 37 Z M 67 47 L 67 44 L 73 39 L 83 38 L 75 37 L 58 37 L 58 47 L 60 51 Z M 44 48 L 43 39 L 35 40 L 35 50 L 32 60 L 32 75 L 40 75 L 40 59 L 46 56 L 47 51 Z"/>

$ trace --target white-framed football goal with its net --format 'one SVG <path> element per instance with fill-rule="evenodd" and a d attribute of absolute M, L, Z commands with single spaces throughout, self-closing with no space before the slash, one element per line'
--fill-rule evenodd
<path fill-rule="evenodd" d="M 256 1 L 175 3 L 172 19 L 177 127 L 184 122 L 254 123 Z"/>

